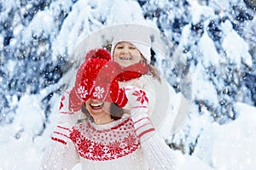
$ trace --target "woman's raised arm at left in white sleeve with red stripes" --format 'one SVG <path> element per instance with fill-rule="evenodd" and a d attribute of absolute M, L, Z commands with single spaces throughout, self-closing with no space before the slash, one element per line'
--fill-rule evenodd
<path fill-rule="evenodd" d="M 79 162 L 79 155 L 69 139 L 69 133 L 76 121 L 79 119 L 79 113 L 69 112 L 67 110 L 68 92 L 65 92 L 61 98 L 59 122 L 57 123 L 49 144 L 45 150 L 40 169 L 72 169 Z"/>

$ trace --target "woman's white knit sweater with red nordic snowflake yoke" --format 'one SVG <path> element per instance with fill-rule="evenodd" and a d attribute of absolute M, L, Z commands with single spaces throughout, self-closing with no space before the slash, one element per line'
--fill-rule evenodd
<path fill-rule="evenodd" d="M 78 123 L 79 113 L 65 111 L 67 98 L 68 92 L 62 97 L 61 121 L 41 169 L 72 169 L 79 162 L 82 169 L 176 169 L 172 150 L 158 137 L 148 114 L 125 114 L 120 120 L 103 125 L 86 119 Z M 147 109 L 131 108 L 131 112 Z"/>

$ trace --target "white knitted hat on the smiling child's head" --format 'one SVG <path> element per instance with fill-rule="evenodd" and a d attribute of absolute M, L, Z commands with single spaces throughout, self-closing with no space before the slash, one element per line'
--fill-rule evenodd
<path fill-rule="evenodd" d="M 151 60 L 151 40 L 150 33 L 140 29 L 139 27 L 124 27 L 119 29 L 119 31 L 115 32 L 113 35 L 113 42 L 111 48 L 111 54 L 113 57 L 113 49 L 117 45 L 118 42 L 130 42 L 134 45 L 147 59 L 147 63 L 150 63 Z"/>

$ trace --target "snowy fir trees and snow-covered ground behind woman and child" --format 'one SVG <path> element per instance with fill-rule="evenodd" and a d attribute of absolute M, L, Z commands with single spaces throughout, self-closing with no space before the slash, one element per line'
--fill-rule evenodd
<path fill-rule="evenodd" d="M 179 169 L 256 168 L 254 0 L 3 0 L 0 11 L 0 169 L 38 169 L 74 48 L 120 23 L 166 35 L 158 66 L 174 92 L 192 76 L 189 117 L 166 139 Z"/>

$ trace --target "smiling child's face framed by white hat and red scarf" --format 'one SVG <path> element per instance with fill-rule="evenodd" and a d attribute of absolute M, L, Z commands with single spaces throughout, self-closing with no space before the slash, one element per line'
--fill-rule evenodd
<path fill-rule="evenodd" d="M 113 49 L 113 60 L 121 66 L 129 66 L 141 61 L 142 54 L 130 42 L 119 42 Z"/>

